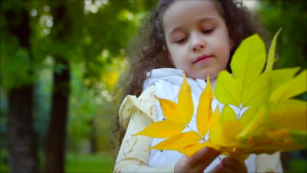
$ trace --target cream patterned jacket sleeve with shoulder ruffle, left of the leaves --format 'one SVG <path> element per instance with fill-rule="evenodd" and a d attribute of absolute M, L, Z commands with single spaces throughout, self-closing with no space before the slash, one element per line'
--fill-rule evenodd
<path fill-rule="evenodd" d="M 156 86 L 146 89 L 139 98 L 127 96 L 120 107 L 120 122 L 126 128 L 114 172 L 174 172 L 175 163 L 165 167 L 149 167 L 148 158 L 152 138 L 133 136 L 156 119 Z"/>

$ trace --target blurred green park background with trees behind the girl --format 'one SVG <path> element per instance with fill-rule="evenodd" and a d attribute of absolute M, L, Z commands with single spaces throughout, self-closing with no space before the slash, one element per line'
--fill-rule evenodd
<path fill-rule="evenodd" d="M 114 86 L 157 1 L 0 2 L 0 171 L 112 172 Z M 277 67 L 307 67 L 307 1 L 239 2 L 269 40 L 283 28 Z M 307 170 L 305 151 L 283 157 L 287 172 Z"/>

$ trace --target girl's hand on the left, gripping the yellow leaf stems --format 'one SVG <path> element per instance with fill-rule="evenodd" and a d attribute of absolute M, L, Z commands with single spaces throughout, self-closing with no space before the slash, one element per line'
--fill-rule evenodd
<path fill-rule="evenodd" d="M 217 150 L 204 147 L 190 157 L 184 155 L 175 164 L 175 173 L 203 172 L 203 170 L 220 154 L 221 152 Z"/>

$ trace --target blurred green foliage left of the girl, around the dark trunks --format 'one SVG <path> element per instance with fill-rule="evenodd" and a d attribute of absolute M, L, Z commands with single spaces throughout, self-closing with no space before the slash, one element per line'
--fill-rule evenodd
<path fill-rule="evenodd" d="M 107 3 L 106 3 L 107 2 Z M 52 103 L 53 72 L 70 68 L 71 93 L 68 119 L 68 147 L 78 151 L 81 142 L 96 136 L 100 149 L 109 149 L 114 111 L 111 93 L 126 62 L 126 47 L 145 12 L 155 1 L 3 1 L 1 2 L 0 65 L 2 92 L 34 83 L 34 126 L 44 146 Z M 59 7 L 64 7 L 59 13 Z M 96 8 L 96 10 L 95 10 Z M 30 16 L 30 49 L 20 47 L 6 13 Z M 62 17 L 61 20 L 58 20 Z M 65 32 L 61 32 L 62 30 Z M 70 67 L 58 62 L 62 57 Z M 4 95 L 2 95 L 4 96 Z M 1 97 L 2 103 L 7 102 Z M 6 112 L 8 105 L 2 105 Z M 112 111 L 111 111 L 112 110 Z M 6 124 L 2 114 L 2 124 Z M 1 133 L 6 132 L 1 126 Z M 96 131 L 93 131 L 96 128 Z M 92 134 L 95 133 L 95 134 Z"/>

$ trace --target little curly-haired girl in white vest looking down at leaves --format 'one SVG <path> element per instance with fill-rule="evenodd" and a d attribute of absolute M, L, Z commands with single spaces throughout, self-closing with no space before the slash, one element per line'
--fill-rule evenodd
<path fill-rule="evenodd" d="M 119 110 L 126 133 L 114 172 L 281 172 L 279 153 L 251 154 L 239 162 L 205 147 L 187 157 L 177 151 L 146 151 L 164 139 L 132 136 L 164 120 L 156 97 L 177 102 L 184 73 L 197 107 L 207 75 L 214 88 L 218 73 L 230 71 L 240 42 L 257 32 L 249 13 L 231 0 L 160 0 L 148 21 L 147 44 L 131 66 L 128 96 Z M 215 99 L 212 107 L 217 104 Z M 196 109 L 191 123 L 195 115 Z"/>

